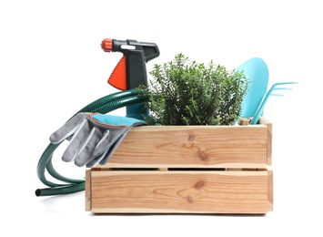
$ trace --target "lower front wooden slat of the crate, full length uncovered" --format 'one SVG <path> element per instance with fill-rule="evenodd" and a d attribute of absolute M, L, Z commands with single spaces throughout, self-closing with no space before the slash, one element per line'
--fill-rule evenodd
<path fill-rule="evenodd" d="M 266 213 L 267 171 L 111 171 L 91 174 L 95 213 Z"/>

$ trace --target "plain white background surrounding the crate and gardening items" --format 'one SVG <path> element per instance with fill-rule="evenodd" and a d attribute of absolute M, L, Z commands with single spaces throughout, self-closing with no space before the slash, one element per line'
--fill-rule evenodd
<path fill-rule="evenodd" d="M 320 1 L 1 1 L 1 236 L 322 236 L 322 8 Z M 265 216 L 93 215 L 84 192 L 35 197 L 49 135 L 80 108 L 113 92 L 106 83 L 121 53 L 106 38 L 154 42 L 160 57 L 184 53 L 237 68 L 250 57 L 269 67 L 274 211 Z M 119 109 L 113 113 L 124 115 Z M 72 178 L 85 169 L 54 158 Z M 5 233 L 4 233 L 5 232 Z"/>

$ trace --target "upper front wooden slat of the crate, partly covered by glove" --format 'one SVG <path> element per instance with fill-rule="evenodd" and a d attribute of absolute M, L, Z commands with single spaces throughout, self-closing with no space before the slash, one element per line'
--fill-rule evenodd
<path fill-rule="evenodd" d="M 136 127 L 98 167 L 266 168 L 267 132 L 261 124 Z"/>

